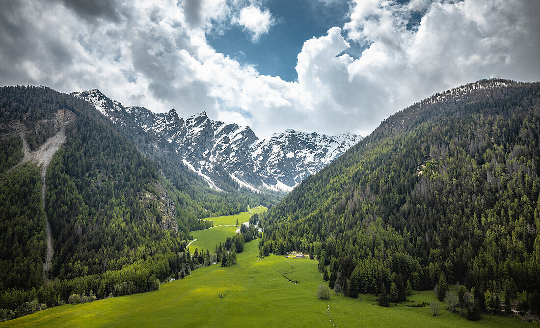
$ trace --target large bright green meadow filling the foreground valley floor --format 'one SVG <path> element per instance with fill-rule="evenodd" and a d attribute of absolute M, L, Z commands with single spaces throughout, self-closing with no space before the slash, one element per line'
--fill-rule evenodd
<path fill-rule="evenodd" d="M 445 309 L 434 317 L 429 307 L 376 305 L 375 296 L 357 299 L 332 294 L 316 298 L 323 284 L 315 260 L 271 255 L 259 259 L 258 242 L 247 243 L 238 263 L 211 265 L 191 276 L 162 284 L 159 291 L 63 305 L 0 326 L 193 326 L 193 327 L 527 327 L 518 319 L 482 314 L 470 322 Z M 298 284 L 287 279 L 298 280 Z M 220 295 L 223 295 L 220 298 Z M 433 291 L 410 299 L 434 300 Z M 330 322 L 332 319 L 332 322 Z"/>

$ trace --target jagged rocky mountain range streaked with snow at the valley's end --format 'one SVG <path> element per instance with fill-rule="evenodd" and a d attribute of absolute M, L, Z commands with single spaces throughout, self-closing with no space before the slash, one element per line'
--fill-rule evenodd
<path fill-rule="evenodd" d="M 254 192 L 290 191 L 362 139 L 353 133 L 327 136 L 294 130 L 260 139 L 249 126 L 214 121 L 206 112 L 183 119 L 174 109 L 154 113 L 143 107 L 124 107 L 99 90 L 73 96 L 93 104 L 116 124 L 129 127 L 134 122 L 166 141 L 188 168 L 218 190 L 228 180 Z"/>

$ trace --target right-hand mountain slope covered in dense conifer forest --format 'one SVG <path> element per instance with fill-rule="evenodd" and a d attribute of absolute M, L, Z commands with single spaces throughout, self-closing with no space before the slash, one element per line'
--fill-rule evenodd
<path fill-rule="evenodd" d="M 274 253 L 315 253 L 349 296 L 395 284 L 540 290 L 540 84 L 484 80 L 414 104 L 262 219 Z M 442 275 L 441 275 L 442 273 Z M 536 308 L 536 310 L 538 309 Z"/>

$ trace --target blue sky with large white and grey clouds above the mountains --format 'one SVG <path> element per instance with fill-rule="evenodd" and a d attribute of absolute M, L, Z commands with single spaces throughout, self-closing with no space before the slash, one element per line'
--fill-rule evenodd
<path fill-rule="evenodd" d="M 366 136 L 434 93 L 540 79 L 537 0 L 0 0 L 0 85 Z"/>

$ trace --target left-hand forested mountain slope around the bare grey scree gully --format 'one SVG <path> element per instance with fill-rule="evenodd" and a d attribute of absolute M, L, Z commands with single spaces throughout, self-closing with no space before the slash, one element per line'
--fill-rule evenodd
<path fill-rule="evenodd" d="M 46 169 L 43 204 L 38 165 L 18 164 L 22 140 L 30 150 L 46 145 L 64 111 L 72 119 Z M 190 230 L 205 227 L 199 218 L 265 201 L 167 169 L 174 157 L 151 152 L 154 140 L 49 88 L 0 88 L 0 114 L 0 320 L 3 309 L 11 318 L 35 311 L 36 300 L 51 306 L 72 293 L 92 299 L 156 289 L 157 279 L 194 268 L 184 251 Z M 43 205 L 53 245 L 47 283 Z"/>

